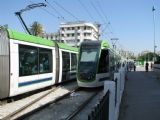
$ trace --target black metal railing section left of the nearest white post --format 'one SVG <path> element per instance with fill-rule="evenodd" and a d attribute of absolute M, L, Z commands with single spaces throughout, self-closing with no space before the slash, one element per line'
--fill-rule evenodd
<path fill-rule="evenodd" d="M 88 115 L 88 120 L 109 120 L 109 90 Z"/>

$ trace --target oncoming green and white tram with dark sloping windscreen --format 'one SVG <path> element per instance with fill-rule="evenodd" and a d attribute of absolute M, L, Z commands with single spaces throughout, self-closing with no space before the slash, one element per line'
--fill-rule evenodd
<path fill-rule="evenodd" d="M 118 69 L 120 56 L 110 49 L 107 42 L 81 43 L 78 58 L 77 81 L 80 87 L 98 87 L 105 80 L 112 80 Z"/>

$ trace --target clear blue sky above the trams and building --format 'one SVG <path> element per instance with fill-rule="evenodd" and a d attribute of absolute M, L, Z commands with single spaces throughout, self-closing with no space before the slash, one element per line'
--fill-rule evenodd
<path fill-rule="evenodd" d="M 101 40 L 112 45 L 111 39 L 117 38 L 117 48 L 139 53 L 153 52 L 155 23 L 156 51 L 160 51 L 160 0 L 1 0 L 0 25 L 7 24 L 10 29 L 25 32 L 14 12 L 42 2 L 47 7 L 22 13 L 28 27 L 38 21 L 51 33 L 56 32 L 62 22 L 97 22 L 101 24 Z"/>

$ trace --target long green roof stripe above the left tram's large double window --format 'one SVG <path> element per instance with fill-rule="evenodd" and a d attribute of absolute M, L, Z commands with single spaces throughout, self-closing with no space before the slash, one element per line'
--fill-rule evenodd
<path fill-rule="evenodd" d="M 35 44 L 40 44 L 40 45 L 45 45 L 45 46 L 50 46 L 50 47 L 55 46 L 54 41 L 47 40 L 41 37 L 28 35 L 25 33 L 14 31 L 14 30 L 8 30 L 8 33 L 9 33 L 10 39 L 29 42 L 29 43 L 35 43 Z"/>

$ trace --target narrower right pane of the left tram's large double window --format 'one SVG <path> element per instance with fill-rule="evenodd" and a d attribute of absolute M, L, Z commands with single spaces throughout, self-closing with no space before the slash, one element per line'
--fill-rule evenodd
<path fill-rule="evenodd" d="M 52 72 L 52 51 L 44 48 L 39 48 L 39 72 Z"/>

